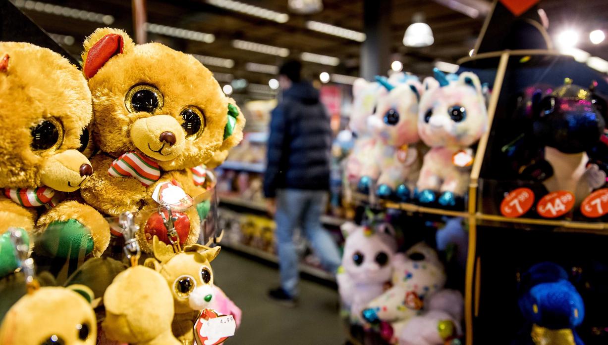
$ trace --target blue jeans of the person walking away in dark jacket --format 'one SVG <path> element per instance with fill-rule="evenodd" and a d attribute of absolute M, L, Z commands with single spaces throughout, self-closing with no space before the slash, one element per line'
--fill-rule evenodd
<path fill-rule="evenodd" d="M 294 229 L 299 227 L 313 246 L 323 267 L 336 273 L 340 266 L 340 253 L 330 233 L 321 225 L 327 192 L 323 190 L 277 190 L 277 250 L 281 273 L 281 287 L 296 296 L 299 280 L 298 257 L 293 242 Z"/>

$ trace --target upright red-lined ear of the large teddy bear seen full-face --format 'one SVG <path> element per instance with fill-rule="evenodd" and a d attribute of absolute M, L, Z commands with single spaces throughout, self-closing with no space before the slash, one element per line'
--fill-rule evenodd
<path fill-rule="evenodd" d="M 126 32 L 108 27 L 95 30 L 83 45 L 83 73 L 87 79 L 92 78 L 112 56 L 129 52 L 135 46 Z"/>

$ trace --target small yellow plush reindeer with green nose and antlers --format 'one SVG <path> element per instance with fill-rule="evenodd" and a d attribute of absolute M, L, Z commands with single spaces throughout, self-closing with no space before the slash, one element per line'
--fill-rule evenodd
<path fill-rule="evenodd" d="M 154 236 L 154 258 L 145 265 L 153 267 L 165 278 L 173 293 L 175 316 L 173 335 L 182 344 L 193 344 L 193 327 L 202 309 L 213 298 L 213 272 L 210 262 L 218 256 L 220 247 L 209 248 L 200 244 L 186 246 L 175 253 L 171 246 Z"/>

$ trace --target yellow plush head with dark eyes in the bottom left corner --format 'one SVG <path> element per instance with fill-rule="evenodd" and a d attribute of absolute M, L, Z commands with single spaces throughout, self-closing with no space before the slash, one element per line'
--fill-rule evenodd
<path fill-rule="evenodd" d="M 88 327 L 81 339 L 78 327 Z M 95 313 L 85 298 L 65 287 L 41 287 L 13 304 L 0 326 L 3 345 L 46 344 L 52 335 L 62 344 L 94 345 Z"/>

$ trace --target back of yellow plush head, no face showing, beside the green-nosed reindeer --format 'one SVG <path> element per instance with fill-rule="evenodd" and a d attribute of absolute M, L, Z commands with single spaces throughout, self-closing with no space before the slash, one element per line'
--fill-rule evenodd
<path fill-rule="evenodd" d="M 148 267 L 119 273 L 103 295 L 102 327 L 111 340 L 137 345 L 180 345 L 171 333 L 173 297 L 163 276 Z"/>

